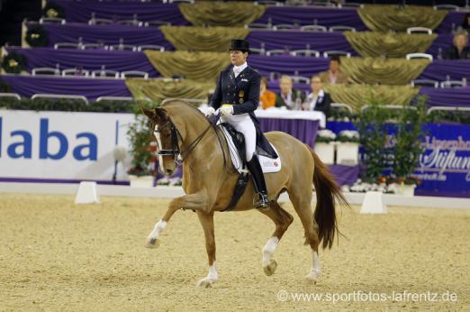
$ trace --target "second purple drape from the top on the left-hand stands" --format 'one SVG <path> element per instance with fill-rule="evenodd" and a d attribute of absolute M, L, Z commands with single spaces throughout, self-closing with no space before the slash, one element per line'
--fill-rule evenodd
<path fill-rule="evenodd" d="M 49 33 L 48 46 L 59 42 L 77 42 L 82 37 L 84 43 L 119 44 L 120 39 L 125 44 L 143 45 L 158 44 L 166 50 L 174 50 L 165 39 L 158 27 L 137 27 L 125 25 L 88 25 L 84 23 L 43 24 Z"/>

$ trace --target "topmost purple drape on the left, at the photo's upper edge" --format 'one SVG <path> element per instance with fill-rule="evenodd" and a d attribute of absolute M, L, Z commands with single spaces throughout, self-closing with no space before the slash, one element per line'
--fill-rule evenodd
<path fill-rule="evenodd" d="M 188 22 L 179 11 L 177 4 L 151 2 L 96 1 L 96 0 L 54 0 L 64 8 L 68 22 L 88 23 L 92 14 L 95 18 L 112 20 L 131 20 L 137 14 L 139 21 L 165 21 L 174 25 L 185 25 Z"/>

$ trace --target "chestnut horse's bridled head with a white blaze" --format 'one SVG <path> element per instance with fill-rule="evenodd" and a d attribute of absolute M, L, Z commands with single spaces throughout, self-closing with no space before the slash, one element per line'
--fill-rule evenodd
<path fill-rule="evenodd" d="M 142 111 L 150 119 L 150 129 L 153 131 L 158 143 L 158 171 L 171 176 L 177 168 L 177 157 L 180 154 L 178 145 L 178 131 L 171 121 L 167 111 L 163 108 L 147 109 Z"/>

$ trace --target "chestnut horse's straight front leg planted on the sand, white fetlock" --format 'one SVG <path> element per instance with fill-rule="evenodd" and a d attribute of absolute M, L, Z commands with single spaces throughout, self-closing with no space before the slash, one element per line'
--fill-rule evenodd
<path fill-rule="evenodd" d="M 201 211 L 197 212 L 199 221 L 203 225 L 203 231 L 205 236 L 205 249 L 207 251 L 207 257 L 209 258 L 209 273 L 205 278 L 197 282 L 197 286 L 205 289 L 212 286 L 212 283 L 217 280 L 217 271 L 215 269 L 215 235 L 213 232 L 213 212 L 204 213 Z"/>

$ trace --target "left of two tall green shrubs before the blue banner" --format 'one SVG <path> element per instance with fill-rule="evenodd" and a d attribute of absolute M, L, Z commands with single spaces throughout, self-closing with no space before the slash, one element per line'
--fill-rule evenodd
<path fill-rule="evenodd" d="M 390 148 L 386 146 L 386 122 L 392 118 L 390 109 L 384 107 L 383 98 L 372 94 L 366 98 L 367 109 L 361 110 L 356 122 L 366 162 L 365 180 L 375 182 L 388 165 Z"/>

